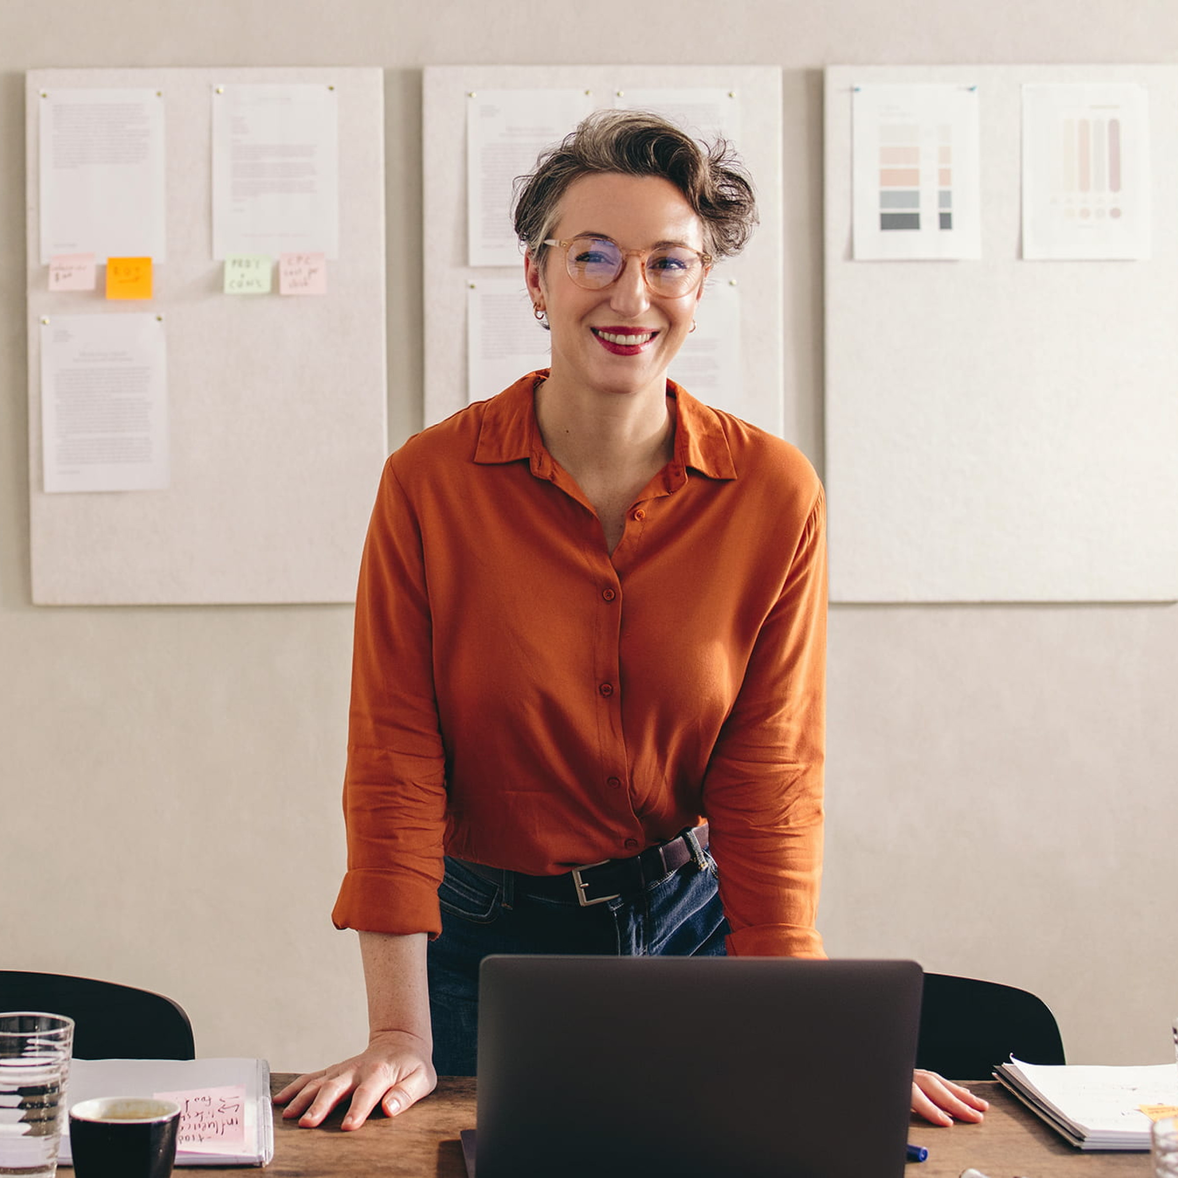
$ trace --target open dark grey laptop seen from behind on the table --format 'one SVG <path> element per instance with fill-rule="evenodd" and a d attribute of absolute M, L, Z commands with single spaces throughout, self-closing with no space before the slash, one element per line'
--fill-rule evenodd
<path fill-rule="evenodd" d="M 468 1171 L 899 1178 L 921 985 L 913 961 L 487 958 Z"/>

